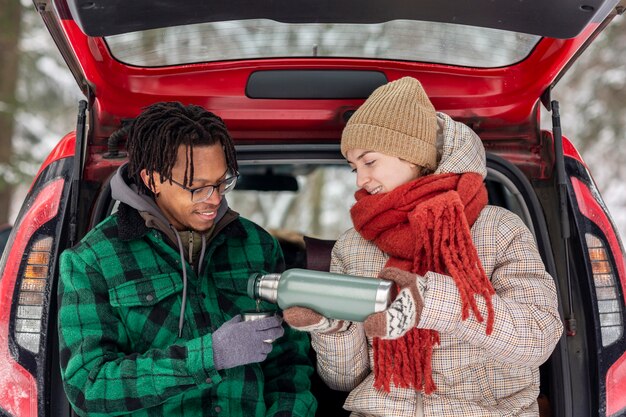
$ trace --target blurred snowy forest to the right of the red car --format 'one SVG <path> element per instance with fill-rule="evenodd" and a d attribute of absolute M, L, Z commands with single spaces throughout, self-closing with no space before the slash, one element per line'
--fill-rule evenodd
<path fill-rule="evenodd" d="M 563 134 L 580 150 L 626 238 L 626 15 L 617 16 L 557 84 Z"/>

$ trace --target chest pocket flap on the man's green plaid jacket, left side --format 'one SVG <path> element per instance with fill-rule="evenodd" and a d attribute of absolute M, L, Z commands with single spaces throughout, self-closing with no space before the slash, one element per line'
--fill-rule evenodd
<path fill-rule="evenodd" d="M 172 294 L 181 292 L 183 283 L 178 274 L 163 274 L 125 282 L 109 290 L 113 307 L 149 307 Z"/>

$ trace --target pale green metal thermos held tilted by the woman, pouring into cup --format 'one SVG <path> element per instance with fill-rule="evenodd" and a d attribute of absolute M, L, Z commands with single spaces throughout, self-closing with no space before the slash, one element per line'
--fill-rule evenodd
<path fill-rule="evenodd" d="M 328 318 L 362 322 L 387 309 L 395 286 L 379 278 L 294 268 L 282 274 L 252 274 L 248 295 L 282 309 L 308 307 Z"/>

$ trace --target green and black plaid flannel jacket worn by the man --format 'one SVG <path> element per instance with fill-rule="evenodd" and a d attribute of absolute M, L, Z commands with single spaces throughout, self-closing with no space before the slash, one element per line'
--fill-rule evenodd
<path fill-rule="evenodd" d="M 276 240 L 242 218 L 214 236 L 201 275 L 187 265 L 179 338 L 181 260 L 164 239 L 122 205 L 62 254 L 60 362 L 74 410 L 81 416 L 313 416 L 306 333 L 286 326 L 264 362 L 213 367 L 213 331 L 256 307 L 246 293 L 248 276 L 283 268 Z"/>

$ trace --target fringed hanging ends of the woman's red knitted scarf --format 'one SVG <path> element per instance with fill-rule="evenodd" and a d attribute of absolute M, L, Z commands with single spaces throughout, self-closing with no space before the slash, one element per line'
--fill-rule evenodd
<path fill-rule="evenodd" d="M 484 190 L 482 178 L 480 186 Z M 486 204 L 486 190 L 481 195 L 482 190 L 475 190 L 471 196 L 472 221 Z M 452 190 L 430 195 L 424 203 L 408 214 L 412 240 L 416 241 L 411 262 L 407 264 L 408 259 L 394 257 L 393 251 L 390 251 L 387 266 L 402 265 L 403 269 L 420 275 L 433 271 L 451 276 L 461 298 L 463 320 L 468 319 L 471 313 L 478 322 L 485 321 L 475 297 L 482 296 L 487 310 L 486 334 L 491 334 L 494 323 L 491 296 L 495 291 L 472 241 L 467 207 L 463 205 L 460 192 Z M 478 211 L 474 213 L 474 210 Z M 383 235 L 392 236 L 395 232 L 397 230 L 387 230 Z M 404 233 L 403 237 L 407 232 Z M 379 243 L 377 239 L 374 241 Z M 391 242 L 392 246 L 399 244 L 396 240 Z M 437 331 L 417 328 L 398 339 L 375 338 L 374 387 L 389 392 L 393 384 L 400 388 L 423 390 L 426 394 L 433 393 L 437 388 L 432 378 L 433 346 L 439 341 Z"/>

